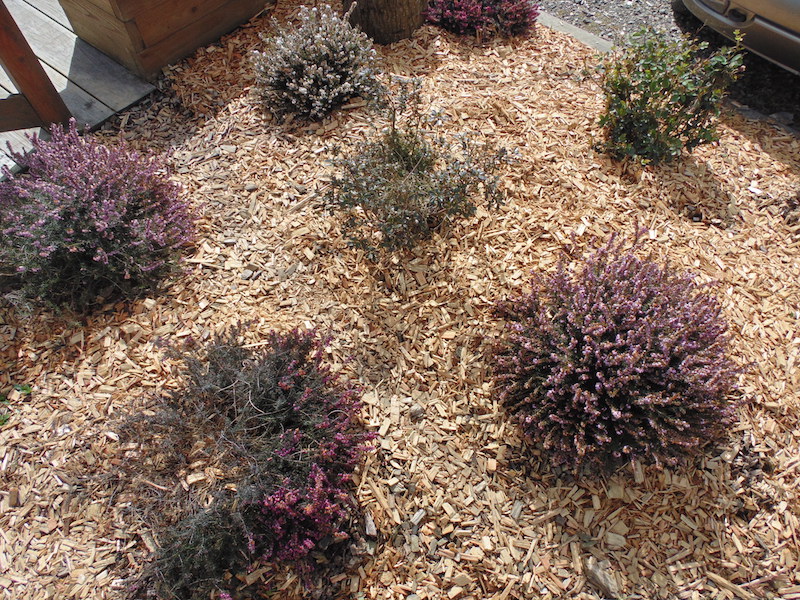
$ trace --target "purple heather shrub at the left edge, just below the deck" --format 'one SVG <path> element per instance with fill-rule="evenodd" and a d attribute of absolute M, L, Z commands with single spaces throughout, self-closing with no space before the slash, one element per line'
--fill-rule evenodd
<path fill-rule="evenodd" d="M 54 125 L 50 141 L 12 153 L 27 174 L 0 183 L 0 263 L 23 292 L 87 308 L 98 295 L 135 295 L 173 269 L 192 239 L 189 207 L 164 165 Z"/>

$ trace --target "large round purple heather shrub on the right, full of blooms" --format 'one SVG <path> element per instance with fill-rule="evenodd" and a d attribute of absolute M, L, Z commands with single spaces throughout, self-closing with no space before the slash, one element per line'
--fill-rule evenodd
<path fill-rule="evenodd" d="M 734 418 L 739 369 L 717 300 L 689 275 L 612 239 L 500 302 L 500 399 L 552 462 L 674 464 Z"/>

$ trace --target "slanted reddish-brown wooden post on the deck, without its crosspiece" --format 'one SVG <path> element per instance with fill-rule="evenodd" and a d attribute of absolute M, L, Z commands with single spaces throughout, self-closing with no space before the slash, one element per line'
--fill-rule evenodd
<path fill-rule="evenodd" d="M 0 60 L 16 88 L 28 99 L 33 110 L 44 123 L 62 123 L 69 119 L 69 111 L 47 78 L 25 36 L 22 35 L 12 13 L 0 1 Z M 20 127 L 28 127 L 25 122 Z M 18 127 L 11 127 L 18 129 Z"/>

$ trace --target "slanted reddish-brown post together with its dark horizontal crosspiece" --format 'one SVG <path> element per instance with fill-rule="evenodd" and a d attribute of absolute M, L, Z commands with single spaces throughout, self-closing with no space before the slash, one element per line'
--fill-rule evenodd
<path fill-rule="evenodd" d="M 0 0 L 0 63 L 21 96 L 0 101 L 3 130 L 66 123 L 70 112 L 19 27 Z M 35 114 L 38 123 L 31 123 Z"/>

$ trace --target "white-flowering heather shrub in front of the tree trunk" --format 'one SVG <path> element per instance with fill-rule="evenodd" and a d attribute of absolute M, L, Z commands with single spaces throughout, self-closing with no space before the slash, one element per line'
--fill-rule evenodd
<path fill-rule="evenodd" d="M 375 50 L 349 14 L 340 17 L 327 5 L 302 7 L 297 27 L 264 38 L 253 65 L 267 108 L 316 121 L 356 96 L 380 97 Z"/>

